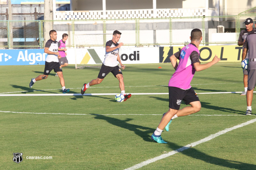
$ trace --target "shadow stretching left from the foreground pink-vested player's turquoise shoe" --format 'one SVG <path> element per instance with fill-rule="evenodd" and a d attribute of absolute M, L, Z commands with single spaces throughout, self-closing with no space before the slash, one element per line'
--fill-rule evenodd
<path fill-rule="evenodd" d="M 129 121 L 132 120 L 130 118 L 126 118 L 126 120 L 120 120 L 120 119 L 116 119 L 116 118 L 113 118 L 113 117 L 107 117 L 105 115 L 96 115 L 96 114 L 91 114 L 91 115 L 95 115 L 94 119 L 105 120 L 108 123 L 113 124 L 115 126 L 118 126 L 118 127 L 124 128 L 124 129 L 128 129 L 130 131 L 133 131 L 136 135 L 140 136 L 144 141 L 152 142 L 151 134 L 156 129 L 152 129 L 152 128 L 148 128 L 148 127 L 128 123 Z"/>

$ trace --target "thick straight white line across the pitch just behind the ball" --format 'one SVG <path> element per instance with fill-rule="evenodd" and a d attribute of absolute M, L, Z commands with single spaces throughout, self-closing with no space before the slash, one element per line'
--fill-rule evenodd
<path fill-rule="evenodd" d="M 256 92 L 256 91 L 255 91 Z M 226 93 L 242 93 L 242 92 L 205 92 L 197 94 L 226 94 Z M 169 93 L 131 93 L 132 95 L 160 95 Z M 47 93 L 47 94 L 0 94 L 1 96 L 106 96 L 106 95 L 116 95 L 116 93 Z"/>

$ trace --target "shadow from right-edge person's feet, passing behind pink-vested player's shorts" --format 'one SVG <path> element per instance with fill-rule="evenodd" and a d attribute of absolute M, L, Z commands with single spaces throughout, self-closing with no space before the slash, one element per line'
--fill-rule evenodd
<path fill-rule="evenodd" d="M 169 99 L 166 99 L 166 98 L 153 97 L 153 96 L 150 96 L 150 98 L 155 98 L 157 100 L 162 100 L 162 101 L 169 102 Z M 211 103 L 207 103 L 207 102 L 204 102 L 204 101 L 200 101 L 200 102 L 201 102 L 202 107 L 206 108 L 206 109 L 212 109 L 212 110 L 221 111 L 221 112 L 228 112 L 228 113 L 235 113 L 235 114 L 244 115 L 244 112 L 240 111 L 240 110 L 235 110 L 235 109 L 228 108 L 228 107 L 213 106 L 213 105 L 210 105 Z M 182 100 L 181 104 L 185 105 L 183 100 Z M 188 106 L 190 106 L 190 105 L 188 105 Z"/>

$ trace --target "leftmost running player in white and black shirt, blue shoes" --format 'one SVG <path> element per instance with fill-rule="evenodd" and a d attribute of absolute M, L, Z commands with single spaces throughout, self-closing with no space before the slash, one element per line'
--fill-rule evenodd
<path fill-rule="evenodd" d="M 61 58 L 60 53 L 58 52 L 58 41 L 57 39 L 57 32 L 55 30 L 50 31 L 51 39 L 45 43 L 44 52 L 47 53 L 47 57 L 45 59 L 45 67 L 44 67 L 44 74 L 37 76 L 36 78 L 32 78 L 31 82 L 29 83 L 29 87 L 32 88 L 36 81 L 46 79 L 50 72 L 54 70 L 60 78 L 60 85 L 62 87 L 62 93 L 68 93 L 69 89 L 65 87 L 65 81 L 62 74 L 62 68 L 59 63 L 59 59 Z"/>

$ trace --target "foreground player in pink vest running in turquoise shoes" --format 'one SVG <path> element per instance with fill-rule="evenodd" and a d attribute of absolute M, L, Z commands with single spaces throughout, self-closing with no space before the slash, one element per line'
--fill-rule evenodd
<path fill-rule="evenodd" d="M 157 143 L 167 143 L 162 139 L 161 133 L 164 128 L 169 131 L 172 119 L 196 113 L 201 109 L 199 98 L 191 87 L 190 82 L 196 71 L 205 70 L 220 61 L 220 58 L 215 55 L 211 62 L 200 64 L 198 47 L 202 38 L 202 31 L 193 29 L 190 36 L 191 43 L 170 57 L 172 66 L 176 71 L 168 84 L 169 110 L 164 113 L 161 122 L 151 136 L 151 139 Z M 177 59 L 180 60 L 179 65 Z M 190 106 L 180 109 L 181 100 Z"/>

